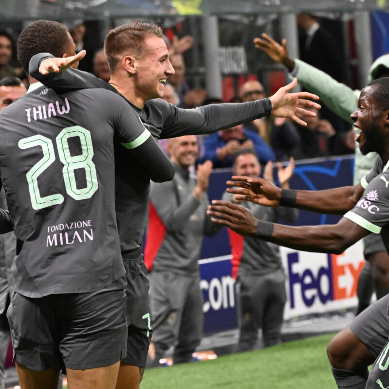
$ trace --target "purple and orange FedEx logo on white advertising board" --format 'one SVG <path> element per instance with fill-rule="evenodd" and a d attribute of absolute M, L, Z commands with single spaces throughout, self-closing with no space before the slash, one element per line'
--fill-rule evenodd
<path fill-rule="evenodd" d="M 295 308 L 297 301 L 301 300 L 305 306 L 310 307 L 318 300 L 325 304 L 327 301 L 355 296 L 364 262 L 344 263 L 339 260 L 342 256 L 343 254 L 328 254 L 327 264 L 314 271 L 301 266 L 299 252 L 288 254 L 290 308 Z M 351 288 L 342 287 L 341 278 L 346 272 L 352 278 Z"/>

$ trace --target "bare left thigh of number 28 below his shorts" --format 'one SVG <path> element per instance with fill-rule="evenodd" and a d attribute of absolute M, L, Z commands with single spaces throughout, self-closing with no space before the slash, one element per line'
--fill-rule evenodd
<path fill-rule="evenodd" d="M 21 389 L 57 389 L 59 372 L 53 369 L 36 371 L 16 364 Z"/>

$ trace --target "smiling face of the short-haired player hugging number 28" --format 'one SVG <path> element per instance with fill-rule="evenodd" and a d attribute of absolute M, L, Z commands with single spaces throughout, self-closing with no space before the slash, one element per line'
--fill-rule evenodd
<path fill-rule="evenodd" d="M 135 58 L 134 65 L 137 94 L 144 101 L 162 97 L 166 78 L 174 74 L 164 40 L 158 36 L 146 38 L 142 54 L 139 58 Z"/>

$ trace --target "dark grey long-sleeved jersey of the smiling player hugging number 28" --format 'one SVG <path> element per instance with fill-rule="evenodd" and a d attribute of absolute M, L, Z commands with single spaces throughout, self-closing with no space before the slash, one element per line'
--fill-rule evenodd
<path fill-rule="evenodd" d="M 48 53 L 36 54 L 30 62 L 30 73 L 50 88 L 58 92 L 80 88 L 108 88 L 115 91 L 106 82 L 92 74 L 68 69 L 59 73 L 43 76 L 38 72 L 40 62 Z M 216 132 L 237 124 L 269 115 L 269 99 L 238 104 L 212 104 L 195 109 L 181 109 L 162 99 L 148 100 L 144 107 L 136 109 L 142 123 L 159 139 L 174 138 L 182 135 L 201 135 Z M 115 147 L 116 159 L 116 214 L 123 257 L 141 247 L 147 217 L 150 180 L 140 170 L 128 171 L 125 166 L 131 163 L 120 147 Z M 131 221 L 130 221 L 131 220 Z"/>

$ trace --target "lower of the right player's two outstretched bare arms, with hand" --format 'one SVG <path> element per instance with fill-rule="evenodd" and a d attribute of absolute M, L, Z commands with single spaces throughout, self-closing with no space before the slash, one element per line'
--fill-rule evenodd
<path fill-rule="evenodd" d="M 243 235 L 298 250 L 342 253 L 370 233 L 343 217 L 335 225 L 290 227 L 257 220 L 248 209 L 229 201 L 213 200 L 211 220 Z"/>

